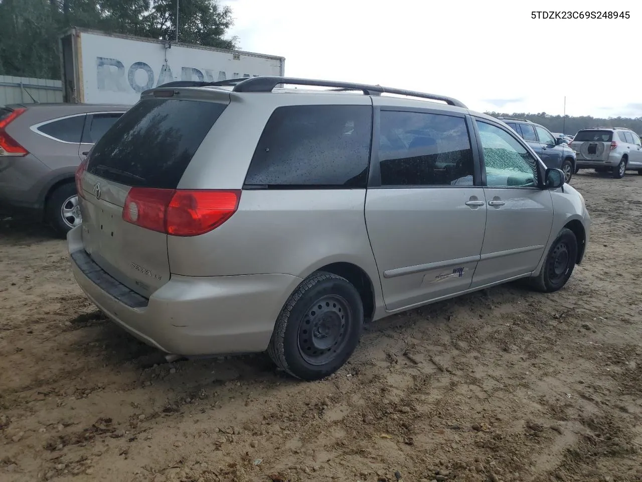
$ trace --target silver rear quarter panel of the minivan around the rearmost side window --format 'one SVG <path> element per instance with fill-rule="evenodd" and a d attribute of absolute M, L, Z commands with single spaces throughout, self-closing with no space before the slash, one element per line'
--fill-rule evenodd
<path fill-rule="evenodd" d="M 251 99 L 247 102 L 245 99 Z M 284 105 L 372 105 L 368 96 L 230 93 L 179 189 L 241 189 L 266 122 Z M 365 226 L 365 189 L 244 190 L 238 211 L 198 237 L 168 237 L 170 271 L 186 276 L 291 274 L 335 262 L 365 271 L 381 299 Z M 392 233 L 391 233 L 392 234 Z M 288 294 L 289 295 L 289 294 Z"/>

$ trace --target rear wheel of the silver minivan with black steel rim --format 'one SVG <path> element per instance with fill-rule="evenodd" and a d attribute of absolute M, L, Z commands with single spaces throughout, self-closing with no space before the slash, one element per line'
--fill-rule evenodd
<path fill-rule="evenodd" d="M 341 276 L 317 271 L 286 301 L 268 354 L 293 377 L 319 380 L 343 366 L 362 330 L 363 303 L 356 288 Z"/>

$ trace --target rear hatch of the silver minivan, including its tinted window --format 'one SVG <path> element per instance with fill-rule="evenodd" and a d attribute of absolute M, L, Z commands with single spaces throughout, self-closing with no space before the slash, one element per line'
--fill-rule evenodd
<path fill-rule="evenodd" d="M 78 169 L 85 251 L 141 296 L 149 298 L 169 280 L 168 204 L 226 106 L 146 96 L 107 131 Z"/>

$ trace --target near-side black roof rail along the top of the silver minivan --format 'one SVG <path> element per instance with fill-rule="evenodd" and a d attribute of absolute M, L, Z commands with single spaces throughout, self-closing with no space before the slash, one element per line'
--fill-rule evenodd
<path fill-rule="evenodd" d="M 225 82 L 225 81 L 224 81 Z M 227 82 L 232 82 L 227 81 Z M 442 95 L 427 94 L 423 92 L 406 91 L 404 89 L 393 89 L 392 87 L 381 87 L 381 85 L 368 85 L 368 84 L 354 84 L 352 82 L 335 82 L 333 80 L 315 80 L 309 78 L 294 78 L 294 77 L 279 77 L 279 76 L 259 76 L 245 78 L 242 82 L 234 79 L 234 92 L 272 92 L 272 90 L 279 84 L 290 85 L 311 85 L 315 87 L 338 87 L 345 91 L 363 91 L 365 95 L 380 95 L 383 93 L 398 94 L 408 97 L 418 97 L 430 100 L 440 100 L 446 102 L 448 105 L 455 105 L 468 109 L 464 103 Z M 209 85 L 225 85 L 210 83 Z"/>

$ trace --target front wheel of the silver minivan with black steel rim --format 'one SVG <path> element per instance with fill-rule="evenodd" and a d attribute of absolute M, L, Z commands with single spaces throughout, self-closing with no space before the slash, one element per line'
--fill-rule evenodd
<path fill-rule="evenodd" d="M 577 238 L 570 229 L 560 231 L 551 244 L 542 269 L 535 278 L 530 278 L 533 289 L 552 293 L 564 287 L 577 261 Z"/>

